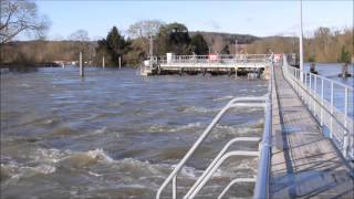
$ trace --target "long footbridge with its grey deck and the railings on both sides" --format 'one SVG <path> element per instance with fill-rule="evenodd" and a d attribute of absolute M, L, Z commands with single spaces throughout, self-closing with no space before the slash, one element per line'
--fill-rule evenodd
<path fill-rule="evenodd" d="M 302 72 L 288 64 L 287 55 L 281 63 L 271 63 L 269 70 L 268 95 L 231 100 L 165 179 L 156 198 L 200 198 L 198 193 L 222 163 L 237 156 L 256 157 L 257 172 L 230 178 L 229 185 L 212 192 L 211 198 L 227 198 L 228 191 L 241 184 L 253 184 L 251 197 L 257 199 L 353 198 L 353 87 Z M 264 108 L 262 137 L 235 137 L 190 187 L 178 187 L 178 175 L 186 163 L 221 117 L 238 107 Z M 259 148 L 230 150 L 240 143 L 256 143 Z"/>

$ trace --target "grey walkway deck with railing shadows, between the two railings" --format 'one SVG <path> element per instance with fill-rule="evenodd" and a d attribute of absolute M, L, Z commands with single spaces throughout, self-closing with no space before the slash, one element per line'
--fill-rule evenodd
<path fill-rule="evenodd" d="M 274 69 L 271 198 L 354 198 L 353 167 Z"/>

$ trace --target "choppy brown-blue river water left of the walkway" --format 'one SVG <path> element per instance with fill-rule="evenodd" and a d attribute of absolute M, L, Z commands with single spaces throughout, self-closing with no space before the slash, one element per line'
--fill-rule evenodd
<path fill-rule="evenodd" d="M 74 67 L 1 74 L 3 198 L 153 198 L 163 180 L 232 96 L 262 96 L 267 81 L 150 76 Z M 179 175 L 186 192 L 222 145 L 260 136 L 263 111 L 230 112 Z M 256 148 L 238 145 L 240 148 Z M 228 161 L 201 191 L 250 177 L 256 159 Z M 250 186 L 230 191 L 250 196 Z"/>

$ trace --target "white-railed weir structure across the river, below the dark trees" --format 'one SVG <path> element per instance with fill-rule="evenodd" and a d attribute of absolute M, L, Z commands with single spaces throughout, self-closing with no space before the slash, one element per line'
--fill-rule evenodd
<path fill-rule="evenodd" d="M 238 74 L 269 80 L 270 54 L 209 54 L 149 56 L 140 66 L 140 75 L 162 74 Z"/>

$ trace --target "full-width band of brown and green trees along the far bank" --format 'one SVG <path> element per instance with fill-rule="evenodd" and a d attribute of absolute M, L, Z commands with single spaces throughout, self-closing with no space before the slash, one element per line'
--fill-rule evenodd
<path fill-rule="evenodd" d="M 299 39 L 293 36 L 257 38 L 248 34 L 228 34 L 215 32 L 189 32 L 181 23 L 140 21 L 128 29 L 128 38 L 113 27 L 107 35 L 98 41 L 90 41 L 88 33 L 80 30 L 66 41 L 18 41 L 1 44 L 0 65 L 34 65 L 53 61 L 77 61 L 83 52 L 83 60 L 90 65 L 116 66 L 121 57 L 123 65 L 137 66 L 149 53 L 176 54 L 233 54 L 235 42 L 238 53 L 299 52 Z M 153 42 L 153 52 L 149 44 Z M 339 62 L 341 50 L 345 48 L 353 56 L 353 30 L 333 31 L 319 28 L 313 35 L 304 38 L 304 59 L 315 62 Z"/>

